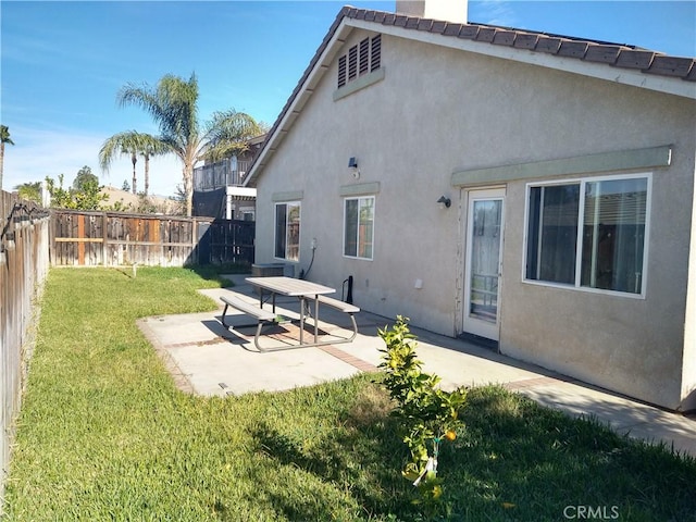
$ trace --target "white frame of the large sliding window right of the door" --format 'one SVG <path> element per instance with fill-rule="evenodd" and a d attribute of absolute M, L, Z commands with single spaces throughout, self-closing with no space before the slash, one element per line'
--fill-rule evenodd
<path fill-rule="evenodd" d="M 644 236 L 644 245 L 643 245 L 643 274 L 641 276 L 641 291 L 638 294 L 632 294 L 627 291 L 619 291 L 619 290 L 607 290 L 605 288 L 591 288 L 587 286 L 581 286 L 581 277 L 582 277 L 582 234 L 577 233 L 577 245 L 575 247 L 575 282 L 574 284 L 563 284 L 563 283 L 554 283 L 548 281 L 538 281 L 538 279 L 527 279 L 526 277 L 526 252 L 527 252 L 527 243 L 529 243 L 529 231 L 530 231 L 530 190 L 533 187 L 548 187 L 548 186 L 559 186 L 559 185 L 571 185 L 571 184 L 580 184 L 580 208 L 577 210 L 579 219 L 577 219 L 577 231 L 582 231 L 585 222 L 584 212 L 581 210 L 584 208 L 582 201 L 585 200 L 585 186 L 587 183 L 595 182 L 608 182 L 614 179 L 635 179 L 635 178 L 646 178 L 647 179 L 647 188 L 646 188 L 646 198 L 645 198 L 645 236 Z M 585 177 L 573 177 L 568 179 L 555 179 L 552 182 L 534 182 L 527 183 L 526 189 L 524 194 L 524 241 L 522 241 L 522 283 L 527 285 L 536 285 L 536 286 L 547 286 L 559 289 L 570 289 L 570 290 L 579 290 L 591 294 L 604 294 L 608 296 L 614 297 L 625 297 L 629 299 L 641 299 L 645 300 L 646 298 L 646 288 L 648 281 L 648 250 L 650 245 L 650 220 L 651 220 L 651 206 L 652 206 L 652 173 L 651 172 L 636 172 L 633 174 L 616 174 L 616 175 L 606 175 L 606 176 L 585 176 Z"/>

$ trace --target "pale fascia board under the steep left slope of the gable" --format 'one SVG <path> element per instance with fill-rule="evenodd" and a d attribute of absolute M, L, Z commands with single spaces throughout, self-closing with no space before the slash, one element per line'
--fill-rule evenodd
<path fill-rule="evenodd" d="M 299 86 L 296 91 L 294 91 L 294 95 L 290 95 L 294 99 L 290 105 L 287 108 L 287 111 L 285 111 L 283 120 L 278 124 L 277 128 L 275 129 L 273 135 L 269 137 L 269 142 L 262 148 L 259 158 L 257 158 L 257 161 L 254 161 L 251 167 L 251 172 L 245 181 L 245 186 L 251 183 L 252 179 L 256 181 L 257 172 L 259 170 L 263 170 L 270 159 L 270 156 L 275 152 L 275 149 L 277 149 L 282 139 L 285 137 L 285 134 L 289 130 L 293 122 L 299 115 L 309 98 L 311 98 L 311 95 L 314 92 L 314 87 L 319 84 L 324 73 L 331 67 L 332 60 L 338 52 L 340 45 L 346 41 L 348 35 L 350 35 L 350 33 L 352 32 L 352 27 L 346 24 L 347 20 L 349 18 L 344 16 L 343 21 L 336 28 L 336 32 L 324 48 L 324 51 L 320 55 L 316 63 L 314 63 L 312 70 L 310 71 L 302 85 Z"/>

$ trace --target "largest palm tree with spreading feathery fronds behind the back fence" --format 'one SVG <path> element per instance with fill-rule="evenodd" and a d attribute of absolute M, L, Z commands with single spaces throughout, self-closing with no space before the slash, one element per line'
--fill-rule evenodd
<path fill-rule="evenodd" d="M 263 128 L 248 114 L 234 110 L 216 112 L 207 125 L 198 120 L 198 80 L 165 75 L 154 88 L 127 84 L 117 95 L 121 107 L 146 110 L 160 127 L 158 139 L 183 164 L 186 215 L 191 215 L 194 167 L 203 159 L 219 159 L 246 150 L 247 141 Z"/>

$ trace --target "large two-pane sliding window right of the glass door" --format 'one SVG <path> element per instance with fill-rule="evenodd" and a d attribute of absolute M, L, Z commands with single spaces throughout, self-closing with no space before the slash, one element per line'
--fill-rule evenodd
<path fill-rule="evenodd" d="M 649 177 L 529 187 L 525 278 L 643 294 Z"/>

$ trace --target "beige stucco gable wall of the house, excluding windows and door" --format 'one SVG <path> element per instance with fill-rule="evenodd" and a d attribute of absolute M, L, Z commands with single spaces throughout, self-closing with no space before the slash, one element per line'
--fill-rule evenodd
<path fill-rule="evenodd" d="M 339 54 L 364 36 L 353 33 Z M 452 172 L 672 144 L 672 165 L 652 174 L 645 299 L 523 282 L 527 181 L 505 184 L 500 350 L 678 407 L 685 382 L 695 103 L 387 35 L 382 67 L 383 80 L 337 101 L 335 63 L 316 86 L 259 178 L 257 262 L 277 261 L 274 195 L 301 191 L 297 273 L 309 269 L 315 239 L 308 278 L 340 291 L 352 275 L 355 302 L 363 309 L 456 335 L 463 202 L 472 187 L 452 186 Z M 347 166 L 350 157 L 358 159 L 359 179 Z M 378 183 L 374 259 L 348 259 L 341 187 L 370 183 Z M 451 208 L 438 208 L 442 195 Z"/>

